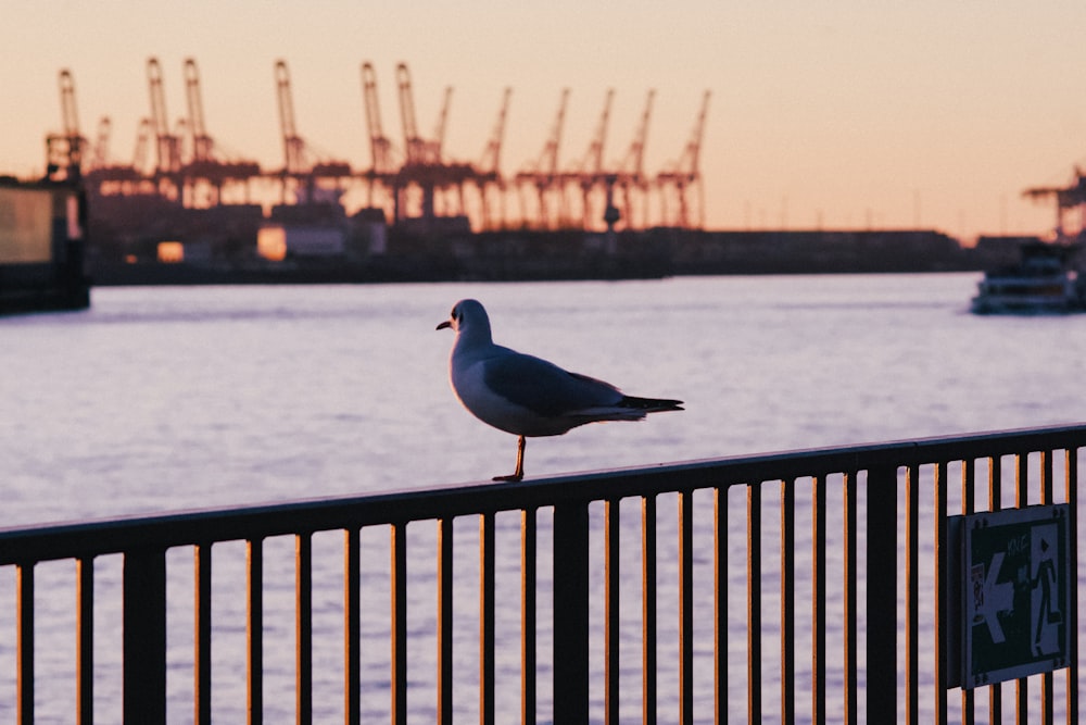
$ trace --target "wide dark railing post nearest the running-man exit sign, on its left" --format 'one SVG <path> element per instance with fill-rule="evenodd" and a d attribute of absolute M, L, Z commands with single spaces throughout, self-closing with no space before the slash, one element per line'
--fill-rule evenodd
<path fill-rule="evenodd" d="M 897 468 L 868 471 L 868 722 L 897 722 Z"/>

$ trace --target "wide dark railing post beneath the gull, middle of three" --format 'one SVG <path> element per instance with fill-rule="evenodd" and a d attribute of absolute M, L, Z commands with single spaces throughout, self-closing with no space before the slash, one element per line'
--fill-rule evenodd
<path fill-rule="evenodd" d="M 589 722 L 589 508 L 554 508 L 554 722 Z"/>

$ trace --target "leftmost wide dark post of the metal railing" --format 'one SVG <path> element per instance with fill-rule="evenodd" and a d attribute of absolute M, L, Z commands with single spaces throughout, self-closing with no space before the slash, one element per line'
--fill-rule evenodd
<path fill-rule="evenodd" d="M 125 552 L 124 722 L 166 722 L 166 552 Z"/>

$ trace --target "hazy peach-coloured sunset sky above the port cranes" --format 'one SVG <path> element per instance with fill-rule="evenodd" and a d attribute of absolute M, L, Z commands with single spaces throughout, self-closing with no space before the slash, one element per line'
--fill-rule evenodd
<path fill-rule="evenodd" d="M 359 66 L 376 66 L 384 130 L 399 141 L 403 61 L 424 135 L 453 86 L 445 148 L 456 160 L 480 159 L 513 88 L 506 174 L 539 157 L 565 87 L 567 166 L 584 155 L 608 88 L 610 162 L 655 88 L 655 174 L 681 154 L 708 89 L 710 228 L 1044 234 L 1051 208 L 1021 191 L 1066 184 L 1086 163 L 1084 34 L 1082 0 L 16 0 L 0 24 L 0 173 L 41 173 L 43 138 L 61 127 L 62 68 L 83 133 L 109 115 L 112 161 L 130 162 L 151 55 L 171 118 L 187 114 L 182 62 L 194 58 L 210 134 L 265 168 L 282 165 L 273 68 L 286 60 L 299 133 L 365 168 Z"/>

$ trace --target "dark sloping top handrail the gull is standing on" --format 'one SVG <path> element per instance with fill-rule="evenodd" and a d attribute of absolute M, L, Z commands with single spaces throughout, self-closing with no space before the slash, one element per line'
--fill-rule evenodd
<path fill-rule="evenodd" d="M 447 485 L 359 497 L 14 527 L 0 529 L 0 565 L 536 509 L 570 501 L 656 496 L 887 466 L 1071 450 L 1083 446 L 1086 446 L 1086 424 L 1076 424 L 614 468 L 520 483 Z"/>

